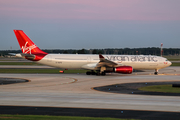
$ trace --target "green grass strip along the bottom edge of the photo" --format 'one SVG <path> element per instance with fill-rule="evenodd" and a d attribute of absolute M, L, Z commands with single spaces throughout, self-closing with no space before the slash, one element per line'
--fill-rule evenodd
<path fill-rule="evenodd" d="M 0 120 L 133 120 L 102 117 L 75 117 L 49 115 L 0 115 Z"/>

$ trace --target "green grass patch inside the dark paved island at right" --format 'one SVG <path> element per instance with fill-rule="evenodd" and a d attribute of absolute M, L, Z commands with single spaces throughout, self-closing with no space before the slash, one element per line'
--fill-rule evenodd
<path fill-rule="evenodd" d="M 180 88 L 172 87 L 172 85 L 153 85 L 153 86 L 141 87 L 138 88 L 138 90 L 150 91 L 150 92 L 180 93 Z"/>

